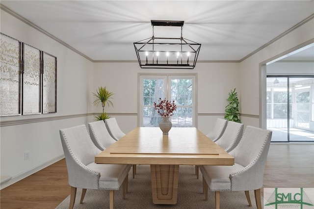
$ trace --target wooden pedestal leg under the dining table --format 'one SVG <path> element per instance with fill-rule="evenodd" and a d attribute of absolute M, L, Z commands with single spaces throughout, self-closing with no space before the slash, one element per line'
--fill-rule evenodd
<path fill-rule="evenodd" d="M 154 204 L 176 204 L 179 165 L 151 165 Z"/>

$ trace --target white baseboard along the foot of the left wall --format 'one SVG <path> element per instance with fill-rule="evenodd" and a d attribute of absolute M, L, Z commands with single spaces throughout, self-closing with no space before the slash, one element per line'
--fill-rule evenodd
<path fill-rule="evenodd" d="M 31 168 L 29 170 L 27 170 L 26 172 L 24 173 L 21 173 L 19 175 L 16 175 L 14 177 L 12 177 L 11 179 L 10 178 L 6 178 L 7 180 L 6 181 L 3 181 L 3 183 L 0 184 L 0 189 L 4 189 L 5 187 L 9 186 L 9 185 L 12 185 L 13 183 L 17 183 L 18 181 L 48 167 L 49 165 L 52 165 L 53 163 L 61 160 L 64 158 L 64 155 L 61 155 L 61 156 L 58 156 L 58 157 L 54 157 L 52 158 L 51 160 L 47 161 L 47 162 L 44 162 L 34 168 Z"/>

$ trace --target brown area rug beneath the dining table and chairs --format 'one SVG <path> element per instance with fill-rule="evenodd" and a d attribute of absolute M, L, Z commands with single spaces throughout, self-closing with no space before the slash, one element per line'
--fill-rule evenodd
<path fill-rule="evenodd" d="M 84 201 L 79 204 L 81 189 L 77 191 L 74 209 L 108 209 L 109 191 L 87 189 Z M 250 191 L 252 207 L 248 206 L 244 192 L 220 192 L 220 209 L 256 209 L 254 192 Z M 68 196 L 56 209 L 68 209 Z M 176 205 L 154 205 L 151 190 L 151 175 L 149 165 L 137 165 L 135 178 L 132 171 L 129 174 L 129 192 L 122 199 L 122 188 L 114 192 L 115 209 L 214 209 L 215 194 L 209 192 L 208 200 L 202 193 L 202 174 L 195 176 L 195 167 L 180 165 L 178 200 Z"/>

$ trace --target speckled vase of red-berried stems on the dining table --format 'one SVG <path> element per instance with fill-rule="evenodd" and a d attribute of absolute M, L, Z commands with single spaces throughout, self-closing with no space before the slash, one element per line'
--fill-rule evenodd
<path fill-rule="evenodd" d="M 154 106 L 158 114 L 161 116 L 159 128 L 161 129 L 163 135 L 168 135 L 168 132 L 172 127 L 169 117 L 174 114 L 173 112 L 177 109 L 177 105 L 175 104 L 174 100 L 168 101 L 166 98 L 163 100 L 159 98 L 158 102 L 158 104 L 154 102 Z"/>

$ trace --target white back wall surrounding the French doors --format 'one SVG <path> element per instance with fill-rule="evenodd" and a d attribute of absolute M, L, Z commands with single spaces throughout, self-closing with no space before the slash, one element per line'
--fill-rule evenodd
<path fill-rule="evenodd" d="M 198 114 L 202 115 L 198 128 L 209 132 L 216 118 L 224 114 L 228 93 L 238 88 L 238 66 L 239 63 L 197 63 L 194 70 L 178 70 L 141 69 L 136 62 L 94 63 L 93 89 L 96 91 L 98 86 L 106 86 L 114 93 L 114 107 L 106 107 L 105 112 L 116 117 L 122 131 L 128 132 L 137 126 L 138 73 L 196 73 Z M 94 112 L 101 110 L 101 106 L 94 107 Z M 203 123 L 203 120 L 209 124 Z"/>

